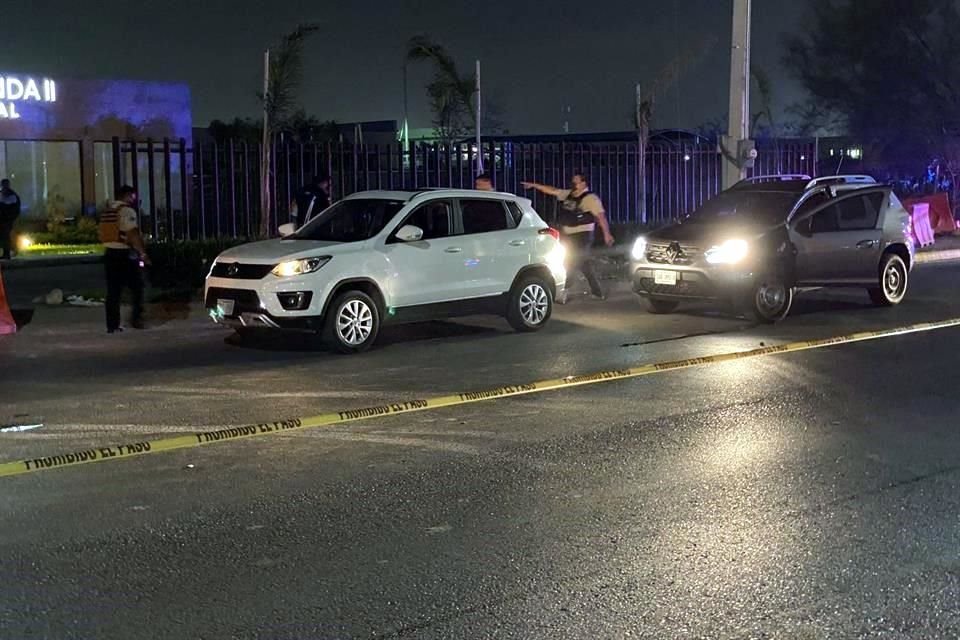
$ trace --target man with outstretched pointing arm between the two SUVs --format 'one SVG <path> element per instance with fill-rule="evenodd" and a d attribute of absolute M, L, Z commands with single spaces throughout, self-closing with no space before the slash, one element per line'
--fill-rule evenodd
<path fill-rule="evenodd" d="M 607 222 L 603 202 L 597 194 L 590 191 L 586 177 L 577 173 L 570 181 L 570 189 L 558 189 L 536 182 L 521 183 L 525 189 L 536 189 L 560 202 L 558 223 L 567 247 L 568 265 L 571 271 L 579 270 L 590 285 L 590 294 L 598 300 L 605 300 L 606 294 L 600 286 L 600 279 L 593 268 L 590 252 L 593 248 L 597 226 L 603 233 L 603 242 L 613 246 L 613 235 Z M 561 303 L 564 300 L 560 301 Z"/>

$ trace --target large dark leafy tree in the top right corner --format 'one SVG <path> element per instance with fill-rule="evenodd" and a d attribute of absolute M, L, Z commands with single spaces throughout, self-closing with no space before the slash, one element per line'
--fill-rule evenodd
<path fill-rule="evenodd" d="M 940 158 L 960 177 L 954 0 L 812 0 L 805 24 L 784 64 L 808 93 L 808 125 L 843 130 L 889 169 Z"/>

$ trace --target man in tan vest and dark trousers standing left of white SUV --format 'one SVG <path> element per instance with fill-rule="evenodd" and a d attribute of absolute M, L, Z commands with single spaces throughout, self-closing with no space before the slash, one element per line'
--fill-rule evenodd
<path fill-rule="evenodd" d="M 120 327 L 120 298 L 130 290 L 133 308 L 130 326 L 143 329 L 143 268 L 150 264 L 140 225 L 137 222 L 137 192 L 122 186 L 117 199 L 100 214 L 99 236 L 104 246 L 103 262 L 107 276 L 107 333 Z"/>

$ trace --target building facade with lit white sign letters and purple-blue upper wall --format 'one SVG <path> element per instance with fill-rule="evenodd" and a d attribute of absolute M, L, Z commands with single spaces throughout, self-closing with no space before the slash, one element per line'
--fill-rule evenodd
<path fill-rule="evenodd" d="M 192 126 L 190 90 L 184 84 L 0 70 L 0 177 L 9 178 L 20 194 L 26 218 L 92 215 L 101 208 L 118 186 L 114 138 L 124 141 L 122 181 L 136 175 L 144 192 L 152 169 L 158 184 L 172 173 L 172 185 L 180 185 L 180 162 L 171 160 L 171 173 L 163 166 L 163 141 L 191 146 Z M 156 143 L 153 158 L 148 141 Z"/>

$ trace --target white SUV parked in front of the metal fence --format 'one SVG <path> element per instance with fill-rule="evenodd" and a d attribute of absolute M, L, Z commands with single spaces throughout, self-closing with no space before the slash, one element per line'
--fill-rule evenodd
<path fill-rule="evenodd" d="M 388 322 L 495 314 L 536 331 L 566 281 L 558 233 L 507 193 L 368 191 L 281 233 L 214 261 L 216 322 L 314 331 L 355 353 Z"/>

